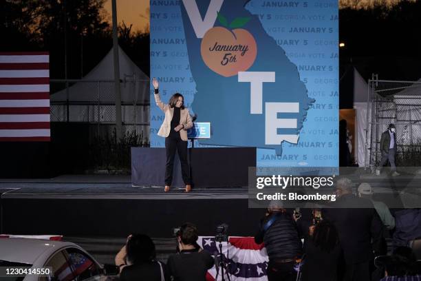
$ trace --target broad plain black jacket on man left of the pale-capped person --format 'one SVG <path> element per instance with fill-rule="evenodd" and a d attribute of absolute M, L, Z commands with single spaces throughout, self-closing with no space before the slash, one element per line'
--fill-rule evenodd
<path fill-rule="evenodd" d="M 336 227 L 347 264 L 367 262 L 373 251 L 380 253 L 383 225 L 370 200 L 343 195 L 323 209 L 323 219 Z"/>

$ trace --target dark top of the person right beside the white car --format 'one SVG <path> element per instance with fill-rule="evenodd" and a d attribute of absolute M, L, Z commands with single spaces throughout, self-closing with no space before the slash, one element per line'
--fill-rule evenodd
<path fill-rule="evenodd" d="M 161 262 L 164 280 L 171 280 L 166 265 Z M 144 262 L 141 264 L 131 264 L 122 269 L 120 273 L 121 281 L 161 281 L 161 269 L 158 262 Z"/>

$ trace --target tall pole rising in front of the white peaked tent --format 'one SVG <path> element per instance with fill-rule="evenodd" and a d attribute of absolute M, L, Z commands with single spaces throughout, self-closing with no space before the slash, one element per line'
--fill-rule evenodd
<path fill-rule="evenodd" d="M 114 54 L 114 92 L 116 94 L 116 135 L 117 142 L 122 138 L 121 122 L 121 92 L 120 92 L 120 59 L 118 58 L 118 23 L 117 23 L 117 3 L 112 0 L 113 18 L 113 54 Z"/>

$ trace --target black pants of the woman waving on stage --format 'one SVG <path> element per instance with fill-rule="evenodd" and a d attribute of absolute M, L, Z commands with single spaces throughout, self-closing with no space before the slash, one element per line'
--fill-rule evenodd
<path fill-rule="evenodd" d="M 165 138 L 165 153 L 166 153 L 166 166 L 165 166 L 165 185 L 171 185 L 173 181 L 173 167 L 175 150 L 178 152 L 180 163 L 182 167 L 182 178 L 184 184 L 191 185 L 190 180 L 190 167 L 188 167 L 187 160 L 187 142 L 183 141 L 180 136 L 169 136 Z"/>

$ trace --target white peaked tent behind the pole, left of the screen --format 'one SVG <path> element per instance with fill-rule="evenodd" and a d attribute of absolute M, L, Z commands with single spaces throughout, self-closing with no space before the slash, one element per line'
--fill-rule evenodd
<path fill-rule="evenodd" d="M 125 124 L 149 123 L 149 77 L 118 47 L 120 59 L 120 92 L 122 121 Z M 57 83 L 60 83 L 58 85 Z M 64 82 L 51 82 L 52 88 Z M 115 123 L 114 59 L 113 50 L 83 79 L 69 83 L 70 87 L 50 96 L 52 121 Z"/>

